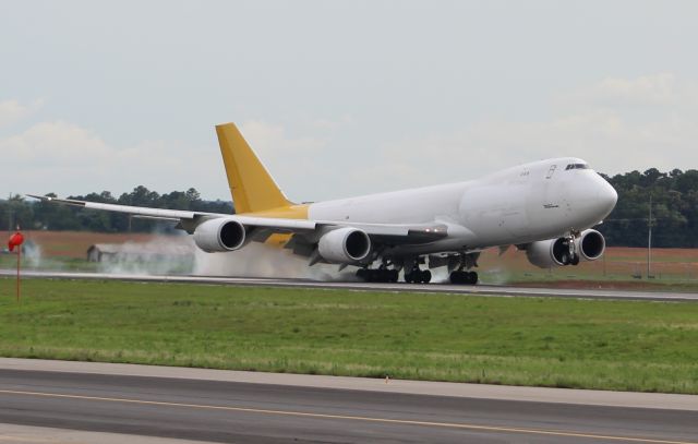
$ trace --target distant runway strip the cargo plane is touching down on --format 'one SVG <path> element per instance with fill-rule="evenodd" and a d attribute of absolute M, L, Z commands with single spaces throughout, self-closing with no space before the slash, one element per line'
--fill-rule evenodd
<path fill-rule="evenodd" d="M 11 269 L 0 269 L 0 276 L 13 277 Z M 69 272 L 24 272 L 27 278 L 51 279 L 99 279 L 124 280 L 143 283 L 179 283 L 206 285 L 236 285 L 281 288 L 320 288 L 346 289 L 356 291 L 396 291 L 424 292 L 450 295 L 508 296 L 508 297 L 549 297 L 549 298 L 583 298 L 583 299 L 615 299 L 615 300 L 647 300 L 698 302 L 696 292 L 669 291 L 622 291 L 622 290 L 589 290 L 562 288 L 528 288 L 494 285 L 450 285 L 450 284 L 377 284 L 361 281 L 317 281 L 310 279 L 282 278 L 252 278 L 252 277 L 214 277 L 214 276 L 155 276 L 106 273 L 69 273 Z"/>

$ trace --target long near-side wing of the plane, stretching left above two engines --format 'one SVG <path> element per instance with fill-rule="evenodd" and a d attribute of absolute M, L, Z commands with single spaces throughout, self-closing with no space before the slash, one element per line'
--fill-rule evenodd
<path fill-rule="evenodd" d="M 105 204 L 35 194 L 27 194 L 27 196 L 38 199 L 43 202 L 79 206 L 87 209 L 124 213 L 139 218 L 177 221 L 179 223 L 179 228 L 190 233 L 195 230 L 196 226 L 205 220 L 227 218 L 237 220 L 251 228 L 260 228 L 267 235 L 275 232 L 299 233 L 311 241 L 316 240 L 315 238 L 322 236 L 327 230 L 332 230 L 334 227 L 353 227 L 363 230 L 374 241 L 390 244 L 426 243 L 447 236 L 447 227 L 443 224 L 358 224 L 336 220 L 287 219 Z M 265 236 L 260 236 L 256 239 L 264 240 Z"/>

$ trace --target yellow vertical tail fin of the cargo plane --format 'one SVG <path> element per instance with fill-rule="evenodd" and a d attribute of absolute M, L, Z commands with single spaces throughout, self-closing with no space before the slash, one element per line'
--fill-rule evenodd
<path fill-rule="evenodd" d="M 263 212 L 292 205 L 234 123 L 216 125 L 216 133 L 236 213 Z"/>

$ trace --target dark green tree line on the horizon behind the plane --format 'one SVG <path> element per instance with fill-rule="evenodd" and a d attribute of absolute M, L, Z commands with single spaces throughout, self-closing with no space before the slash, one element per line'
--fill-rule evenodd
<path fill-rule="evenodd" d="M 618 192 L 618 203 L 606 220 L 597 227 L 613 247 L 647 245 L 652 225 L 652 244 L 660 248 L 698 248 L 698 170 L 674 169 L 661 172 L 650 168 L 613 177 L 603 176 Z M 55 194 L 47 194 L 56 196 Z M 649 220 L 650 197 L 652 219 Z M 232 214 L 232 202 L 205 201 L 190 188 L 158 194 L 141 185 L 115 197 L 110 192 L 69 196 L 80 201 Z M 89 230 L 100 232 L 148 232 L 172 230 L 173 224 L 130 218 L 128 215 L 84 211 L 25 200 L 20 195 L 0 201 L 0 229 Z"/>

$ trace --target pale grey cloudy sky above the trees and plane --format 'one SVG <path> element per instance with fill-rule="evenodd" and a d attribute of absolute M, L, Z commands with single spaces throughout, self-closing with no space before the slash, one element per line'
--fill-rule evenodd
<path fill-rule="evenodd" d="M 317 201 L 577 156 L 698 168 L 695 1 L 0 1 L 0 195 Z"/>

